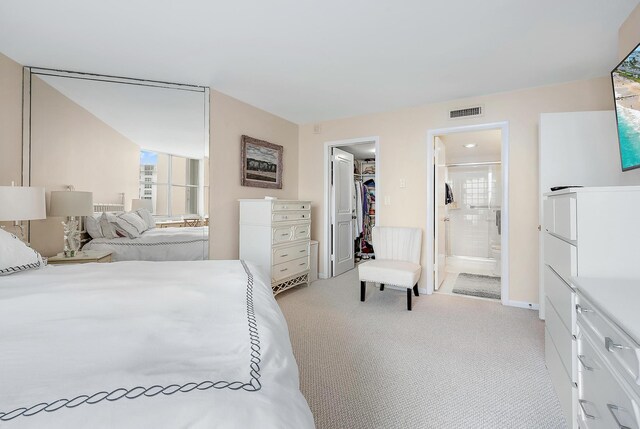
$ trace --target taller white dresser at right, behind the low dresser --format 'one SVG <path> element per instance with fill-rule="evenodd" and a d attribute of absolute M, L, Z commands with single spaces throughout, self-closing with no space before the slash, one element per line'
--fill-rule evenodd
<path fill-rule="evenodd" d="M 578 367 L 572 276 L 640 277 L 640 187 L 545 194 L 545 360 L 569 423 L 577 427 Z"/>

